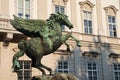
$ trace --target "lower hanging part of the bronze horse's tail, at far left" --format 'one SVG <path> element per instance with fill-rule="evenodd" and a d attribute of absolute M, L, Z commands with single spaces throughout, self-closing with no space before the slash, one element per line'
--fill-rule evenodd
<path fill-rule="evenodd" d="M 18 61 L 18 58 L 24 55 L 24 51 L 19 51 L 17 52 L 14 56 L 13 56 L 13 72 L 18 72 L 18 70 L 20 69 L 20 64 Z"/>

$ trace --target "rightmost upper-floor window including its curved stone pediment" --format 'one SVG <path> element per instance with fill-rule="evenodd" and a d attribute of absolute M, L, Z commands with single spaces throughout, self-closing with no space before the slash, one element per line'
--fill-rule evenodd
<path fill-rule="evenodd" d="M 116 27 L 116 13 L 117 9 L 110 5 L 104 8 L 107 16 L 107 25 L 108 25 L 108 35 L 110 37 L 117 37 L 117 27 Z"/>

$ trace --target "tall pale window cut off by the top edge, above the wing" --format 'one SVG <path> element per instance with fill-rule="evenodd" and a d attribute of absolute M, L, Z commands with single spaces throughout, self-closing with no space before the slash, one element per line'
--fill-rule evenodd
<path fill-rule="evenodd" d="M 30 0 L 18 0 L 18 16 L 30 19 Z"/>

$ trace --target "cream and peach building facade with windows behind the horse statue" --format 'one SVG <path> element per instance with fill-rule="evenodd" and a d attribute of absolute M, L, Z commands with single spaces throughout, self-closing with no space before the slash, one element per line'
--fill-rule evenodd
<path fill-rule="evenodd" d="M 17 43 L 28 39 L 10 25 L 13 14 L 46 20 L 56 12 L 68 16 L 81 47 L 69 39 L 71 52 L 63 44 L 42 63 L 53 73 L 74 74 L 79 80 L 120 80 L 120 0 L 0 0 L 0 80 L 30 80 L 41 74 L 26 55 L 19 58 L 19 74 L 12 72 Z M 70 32 L 64 25 L 61 29 Z"/>

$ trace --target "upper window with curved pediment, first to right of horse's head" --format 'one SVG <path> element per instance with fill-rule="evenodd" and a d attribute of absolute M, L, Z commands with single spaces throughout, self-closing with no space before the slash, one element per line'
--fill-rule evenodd
<path fill-rule="evenodd" d="M 93 33 L 93 25 L 92 25 L 92 10 L 94 4 L 90 1 L 86 0 L 84 2 L 80 2 L 81 12 L 82 12 L 82 21 L 83 21 L 83 33 L 92 34 Z"/>

